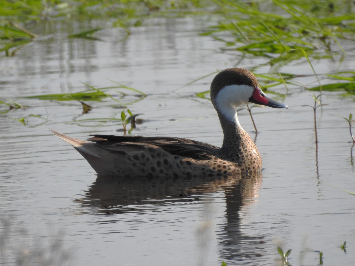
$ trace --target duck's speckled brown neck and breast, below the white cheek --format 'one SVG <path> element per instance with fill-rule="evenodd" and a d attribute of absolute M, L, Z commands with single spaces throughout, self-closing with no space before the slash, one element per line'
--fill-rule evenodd
<path fill-rule="evenodd" d="M 238 162 L 240 166 L 256 165 L 261 169 L 259 151 L 249 134 L 240 126 L 235 109 L 217 111 L 217 113 L 224 134 L 220 153 L 225 156 L 225 159 Z"/>

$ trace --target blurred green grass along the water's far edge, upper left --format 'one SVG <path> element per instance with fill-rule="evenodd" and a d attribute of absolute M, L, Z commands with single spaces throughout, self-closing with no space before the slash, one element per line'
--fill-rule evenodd
<path fill-rule="evenodd" d="M 14 56 L 16 51 L 31 42 L 36 35 L 26 29 L 27 25 L 50 20 L 109 20 L 113 27 L 124 28 L 127 35 L 129 27 L 143 24 L 144 18 L 153 13 L 163 13 L 165 10 L 187 10 L 199 7 L 200 0 L 22 0 L 0 1 L 0 52 L 6 56 Z M 191 10 L 190 13 L 193 11 Z M 91 34 L 99 28 L 69 35 L 69 38 L 85 38 L 99 40 Z"/>

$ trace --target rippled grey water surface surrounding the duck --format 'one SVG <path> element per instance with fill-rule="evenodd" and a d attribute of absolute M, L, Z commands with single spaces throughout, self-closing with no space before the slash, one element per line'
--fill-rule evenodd
<path fill-rule="evenodd" d="M 9 224 L 1 227 L 2 234 L 9 233 L 2 264 L 11 264 L 23 247 L 53 254 L 49 243 L 55 240 L 61 240 L 56 256 L 65 261 L 69 253 L 69 265 L 277 265 L 278 245 L 292 249 L 292 265 L 318 265 L 314 251 L 323 251 L 325 265 L 354 264 L 354 196 L 317 181 L 355 192 L 354 148 L 346 122 L 336 115 L 354 113 L 354 101 L 342 92 L 323 94 L 328 105 L 317 110 L 317 153 L 312 109 L 301 106 L 313 104 L 310 92 L 289 87 L 288 110 L 253 109 L 257 135 L 247 112 L 239 113 L 262 154 L 262 177 L 96 179 L 80 154 L 47 128 L 81 139 L 121 134 L 117 122 L 75 122 L 119 117 L 117 103 L 95 102 L 82 115 L 78 102 L 18 97 L 78 92 L 86 89 L 80 82 L 109 87 L 111 79 L 148 94 L 141 99 L 111 92 L 133 113 L 142 113 L 144 123 L 132 134 L 220 145 L 211 102 L 195 96 L 209 89 L 213 75 L 183 86 L 216 69 L 263 63 L 252 56 L 240 62 L 237 52 L 220 52 L 221 43 L 199 36 L 204 18 L 155 18 L 132 28 L 127 38 L 108 26 L 97 21 L 32 26 L 40 37 L 15 56 L 1 57 L 1 100 L 27 105 L 0 115 L 0 211 Z M 67 38 L 95 27 L 108 27 L 95 34 L 100 41 Z M 318 74 L 353 71 L 353 57 L 350 50 L 340 65 L 323 59 L 313 66 Z M 311 69 L 295 62 L 280 72 L 306 75 Z M 274 91 L 286 93 L 283 87 Z M 24 126 L 10 119 L 29 114 L 49 121 L 29 117 Z M 339 247 L 344 241 L 346 254 Z"/>

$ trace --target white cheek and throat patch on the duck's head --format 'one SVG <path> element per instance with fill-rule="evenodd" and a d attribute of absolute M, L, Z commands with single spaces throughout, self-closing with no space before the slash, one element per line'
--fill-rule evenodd
<path fill-rule="evenodd" d="M 254 87 L 248 85 L 226 86 L 217 94 L 217 108 L 226 118 L 234 120 L 236 107 L 248 102 L 253 92 Z"/>

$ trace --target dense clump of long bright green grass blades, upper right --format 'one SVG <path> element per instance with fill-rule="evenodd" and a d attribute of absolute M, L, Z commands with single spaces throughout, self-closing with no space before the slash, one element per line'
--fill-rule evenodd
<path fill-rule="evenodd" d="M 253 56 L 279 54 L 283 60 L 300 59 L 303 49 L 311 54 L 319 48 L 328 52 L 339 39 L 354 41 L 354 14 L 343 1 L 234 1 L 216 0 L 226 18 L 211 28 L 212 34 L 230 49 Z M 219 33 L 228 32 L 227 37 Z M 289 54 L 284 54 L 289 51 Z M 274 58 L 271 59 L 272 62 Z"/>

